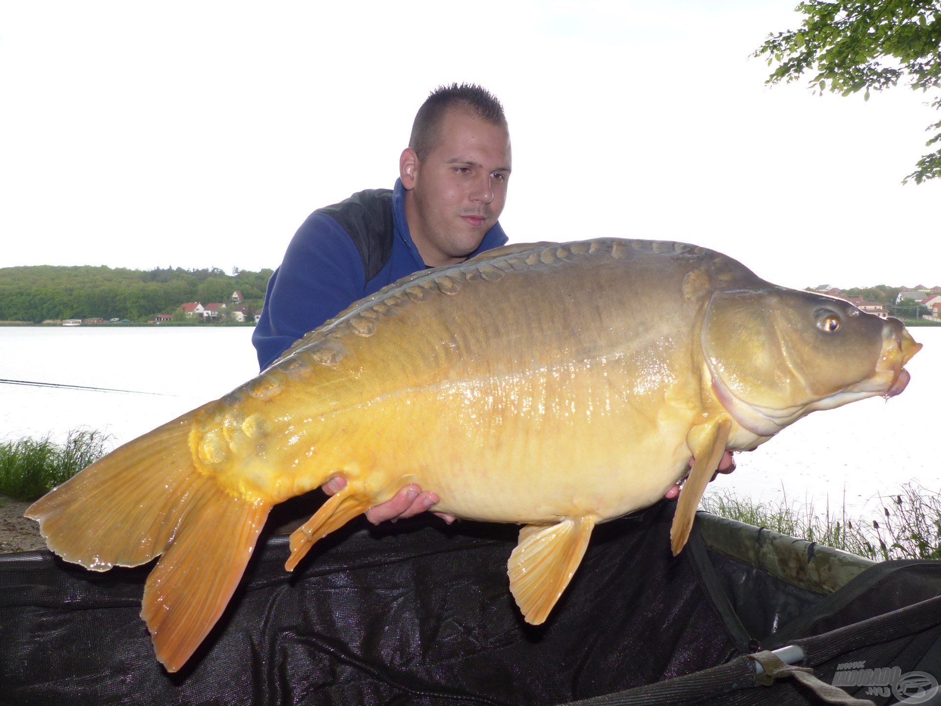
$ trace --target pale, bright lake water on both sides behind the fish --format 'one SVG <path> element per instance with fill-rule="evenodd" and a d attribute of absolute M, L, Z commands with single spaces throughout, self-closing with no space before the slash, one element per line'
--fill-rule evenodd
<path fill-rule="evenodd" d="M 114 442 L 215 399 L 258 372 L 250 328 L 0 327 L 0 377 L 140 393 L 0 384 L 0 439 L 104 429 Z M 711 488 L 761 501 L 844 501 L 862 511 L 879 493 L 915 480 L 941 490 L 941 328 L 911 329 L 925 344 L 906 366 L 908 389 L 811 414 L 737 456 L 738 470 Z"/>

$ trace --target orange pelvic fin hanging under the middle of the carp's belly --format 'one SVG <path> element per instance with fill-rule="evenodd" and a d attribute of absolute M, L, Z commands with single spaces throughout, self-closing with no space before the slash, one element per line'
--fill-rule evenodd
<path fill-rule="evenodd" d="M 510 554 L 510 591 L 526 622 L 543 622 L 582 563 L 595 518 L 527 524 Z"/>

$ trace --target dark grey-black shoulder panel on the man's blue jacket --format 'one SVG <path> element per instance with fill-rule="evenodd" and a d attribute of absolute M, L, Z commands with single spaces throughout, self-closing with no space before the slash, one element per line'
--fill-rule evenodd
<path fill-rule="evenodd" d="M 333 218 L 353 240 L 366 281 L 372 280 L 392 256 L 391 189 L 365 189 L 349 199 L 318 208 L 315 213 Z"/>

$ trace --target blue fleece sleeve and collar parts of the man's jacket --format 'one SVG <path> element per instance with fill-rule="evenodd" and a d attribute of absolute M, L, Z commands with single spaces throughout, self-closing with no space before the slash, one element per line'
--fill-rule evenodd
<path fill-rule="evenodd" d="M 422 255 L 408 232 L 405 195 L 405 186 L 396 180 L 391 200 L 391 256 L 370 281 L 366 281 L 359 250 L 334 218 L 314 212 L 304 221 L 268 281 L 262 317 L 251 336 L 262 370 L 308 331 L 357 299 L 424 269 Z M 500 223 L 495 223 L 470 257 L 499 248 L 506 240 Z"/>

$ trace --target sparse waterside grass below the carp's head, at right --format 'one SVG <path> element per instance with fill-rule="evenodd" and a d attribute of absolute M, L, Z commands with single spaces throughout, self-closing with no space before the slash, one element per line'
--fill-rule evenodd
<path fill-rule="evenodd" d="M 813 504 L 754 503 L 731 493 L 711 493 L 700 507 L 731 520 L 819 542 L 875 561 L 887 559 L 941 559 L 941 492 L 916 483 L 901 493 L 880 495 L 877 517 L 847 516 L 846 506 L 822 514 Z"/>

